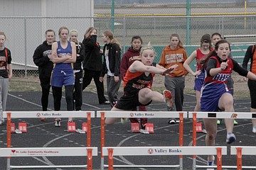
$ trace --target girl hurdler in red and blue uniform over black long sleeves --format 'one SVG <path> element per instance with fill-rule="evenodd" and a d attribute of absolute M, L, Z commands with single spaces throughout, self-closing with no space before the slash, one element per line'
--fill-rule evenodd
<path fill-rule="evenodd" d="M 248 72 L 240 67 L 238 62 L 228 58 L 230 54 L 230 43 L 226 40 L 220 40 L 215 44 L 215 50 L 210 52 L 203 60 L 203 68 L 206 72 L 201 89 L 201 111 L 204 112 L 234 112 L 233 96 L 227 87 L 227 79 L 230 77 L 232 70 L 238 72 L 243 77 L 256 79 L 256 75 Z M 217 119 L 203 119 L 203 123 L 207 130 L 206 146 L 215 145 L 215 137 L 217 135 Z M 227 129 L 228 144 L 235 142 L 236 138 L 233 134 L 233 119 L 225 119 Z M 208 165 L 213 165 L 213 155 L 208 155 Z"/>

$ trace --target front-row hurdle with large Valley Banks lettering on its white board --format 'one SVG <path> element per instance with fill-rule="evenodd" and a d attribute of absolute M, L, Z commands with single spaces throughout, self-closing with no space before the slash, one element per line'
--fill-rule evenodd
<path fill-rule="evenodd" d="M 222 169 L 222 155 L 227 154 L 227 147 L 103 147 L 102 154 L 108 156 L 108 169 L 114 169 L 114 156 L 157 156 L 157 155 L 217 155 L 217 169 Z M 120 166 L 118 166 L 120 167 Z M 123 166 L 127 167 L 127 166 Z M 136 167 L 156 168 L 159 166 L 143 165 Z M 170 167 L 170 166 L 163 166 Z M 176 166 L 178 168 L 178 166 Z"/>

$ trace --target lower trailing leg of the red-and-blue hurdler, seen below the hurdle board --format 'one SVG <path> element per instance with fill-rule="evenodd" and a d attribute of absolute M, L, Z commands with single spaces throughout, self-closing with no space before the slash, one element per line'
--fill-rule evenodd
<path fill-rule="evenodd" d="M 206 146 L 214 146 L 215 145 L 215 137 L 217 135 L 217 119 L 212 118 L 204 118 L 203 124 L 206 127 Z M 213 160 L 213 155 L 208 155 L 208 161 Z"/>

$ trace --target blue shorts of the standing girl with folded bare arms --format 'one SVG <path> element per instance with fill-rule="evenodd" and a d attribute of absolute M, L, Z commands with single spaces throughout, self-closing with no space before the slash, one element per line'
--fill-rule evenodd
<path fill-rule="evenodd" d="M 50 79 L 50 85 L 51 86 L 57 86 L 62 87 L 74 85 L 75 84 L 75 74 L 72 70 L 59 70 L 59 69 L 53 69 L 53 74 Z"/>

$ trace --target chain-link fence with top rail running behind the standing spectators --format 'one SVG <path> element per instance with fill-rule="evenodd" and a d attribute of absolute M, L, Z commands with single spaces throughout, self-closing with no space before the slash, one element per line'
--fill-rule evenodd
<path fill-rule="evenodd" d="M 189 23 L 187 22 L 189 18 Z M 134 35 L 140 35 L 146 45 L 149 41 L 156 48 L 155 62 L 159 62 L 161 52 L 169 45 L 172 33 L 178 33 L 181 42 L 186 45 L 188 56 L 200 45 L 203 34 L 218 32 L 222 35 L 253 35 L 256 33 L 256 16 L 154 16 L 154 17 L 114 17 L 114 37 L 123 46 L 125 52 L 131 45 Z M 105 30 L 112 29 L 113 18 L 41 18 L 41 17 L 1 17 L 0 30 L 6 33 L 6 47 L 12 55 L 12 65 L 15 76 L 28 76 L 37 74 L 37 67 L 33 64 L 33 52 L 45 40 L 45 31 L 53 29 L 58 40 L 58 29 L 67 26 L 78 30 L 78 39 L 82 41 L 85 30 L 90 26 L 98 29 L 98 41 L 104 45 L 100 36 Z M 189 34 L 188 34 L 189 30 Z M 255 42 L 255 37 L 228 38 L 233 49 L 240 50 L 235 56 L 244 55 L 247 44 L 242 42 Z M 239 45 L 238 45 L 239 44 Z M 242 53 L 241 53 L 242 52 Z"/>

